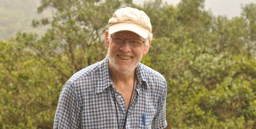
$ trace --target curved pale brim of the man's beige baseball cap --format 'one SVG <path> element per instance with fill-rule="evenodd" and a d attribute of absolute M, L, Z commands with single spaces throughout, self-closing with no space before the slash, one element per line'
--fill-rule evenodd
<path fill-rule="evenodd" d="M 132 31 L 144 39 L 148 37 L 148 33 L 149 33 L 149 30 L 144 29 L 139 25 L 131 24 L 131 23 L 120 23 L 120 24 L 114 24 L 109 26 L 108 33 L 110 35 L 118 31 Z"/>

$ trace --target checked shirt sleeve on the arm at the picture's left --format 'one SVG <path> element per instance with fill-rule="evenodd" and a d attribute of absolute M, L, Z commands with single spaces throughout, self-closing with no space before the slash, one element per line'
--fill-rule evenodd
<path fill-rule="evenodd" d="M 81 107 L 71 83 L 64 84 L 55 113 L 53 129 L 80 128 Z"/>

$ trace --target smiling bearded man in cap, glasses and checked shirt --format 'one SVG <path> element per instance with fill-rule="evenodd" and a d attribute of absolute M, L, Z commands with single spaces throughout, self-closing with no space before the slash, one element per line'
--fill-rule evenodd
<path fill-rule="evenodd" d="M 108 55 L 65 83 L 54 128 L 166 127 L 166 80 L 139 63 L 151 39 L 150 19 L 143 11 L 118 9 L 105 32 Z"/>

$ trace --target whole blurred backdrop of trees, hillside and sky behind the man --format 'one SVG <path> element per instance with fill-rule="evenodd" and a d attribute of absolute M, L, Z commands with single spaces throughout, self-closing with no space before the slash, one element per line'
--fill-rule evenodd
<path fill-rule="evenodd" d="M 168 129 L 256 129 L 256 0 L 0 0 L 0 128 L 53 128 L 62 86 L 106 56 L 126 6 L 151 20 L 141 62 L 166 78 Z"/>

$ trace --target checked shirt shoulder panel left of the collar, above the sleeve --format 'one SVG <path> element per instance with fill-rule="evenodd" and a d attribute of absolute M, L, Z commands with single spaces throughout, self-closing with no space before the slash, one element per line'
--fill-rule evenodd
<path fill-rule="evenodd" d="M 68 81 L 67 83 L 73 83 L 77 80 L 79 80 L 80 78 L 86 77 L 86 76 L 90 76 L 92 73 L 95 73 L 99 70 L 100 64 L 102 61 L 99 61 L 95 64 L 92 64 L 78 72 L 76 72 Z"/>

